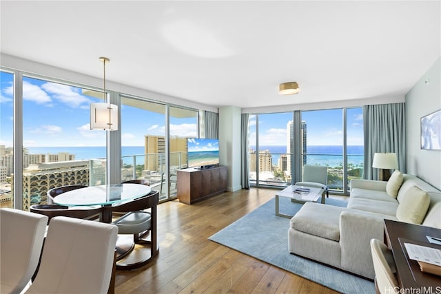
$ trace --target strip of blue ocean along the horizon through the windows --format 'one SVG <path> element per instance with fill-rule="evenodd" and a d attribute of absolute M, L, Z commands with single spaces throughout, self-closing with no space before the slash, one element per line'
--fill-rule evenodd
<path fill-rule="evenodd" d="M 250 146 L 256 149 L 255 146 Z M 87 160 L 90 158 L 105 158 L 105 147 L 27 147 L 30 154 L 58 154 L 59 152 L 68 152 L 75 154 L 76 160 Z M 273 164 L 277 164 L 280 154 L 285 154 L 287 147 L 284 145 L 260 146 L 260 150 L 269 150 L 273 154 Z M 307 164 L 328 165 L 329 167 L 338 167 L 342 165 L 342 146 L 308 146 Z M 123 146 L 121 148 L 122 156 L 144 154 L 143 146 Z M 363 146 L 348 146 L 347 154 L 349 162 L 353 165 L 363 164 Z M 126 160 L 124 160 L 126 161 Z M 130 161 L 130 160 L 129 160 Z"/>

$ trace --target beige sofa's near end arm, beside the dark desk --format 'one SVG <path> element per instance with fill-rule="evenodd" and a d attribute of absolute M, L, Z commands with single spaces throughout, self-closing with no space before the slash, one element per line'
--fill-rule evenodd
<path fill-rule="evenodd" d="M 340 213 L 340 247 L 342 269 L 373 279 L 370 241 L 384 239 L 384 221 L 375 213 L 342 211 Z"/>

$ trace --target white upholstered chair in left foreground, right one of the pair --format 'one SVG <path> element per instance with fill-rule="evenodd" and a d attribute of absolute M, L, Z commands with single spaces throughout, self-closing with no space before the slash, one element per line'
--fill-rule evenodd
<path fill-rule="evenodd" d="M 39 271 L 25 293 L 107 293 L 117 235 L 114 224 L 52 218 Z"/>

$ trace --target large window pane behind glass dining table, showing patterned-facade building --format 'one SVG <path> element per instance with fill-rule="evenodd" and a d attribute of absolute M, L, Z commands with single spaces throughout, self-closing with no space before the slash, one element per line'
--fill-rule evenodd
<path fill-rule="evenodd" d="M 86 93 L 23 77 L 23 209 L 54 187 L 105 183 L 106 133 L 90 129 L 90 103 L 103 100 Z"/>

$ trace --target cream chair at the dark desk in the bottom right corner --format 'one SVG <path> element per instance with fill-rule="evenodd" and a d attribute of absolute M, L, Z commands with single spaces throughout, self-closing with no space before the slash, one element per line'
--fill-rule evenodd
<path fill-rule="evenodd" d="M 400 285 L 393 274 L 396 269 L 391 251 L 380 240 L 371 239 L 371 255 L 376 293 L 398 293 Z"/>

